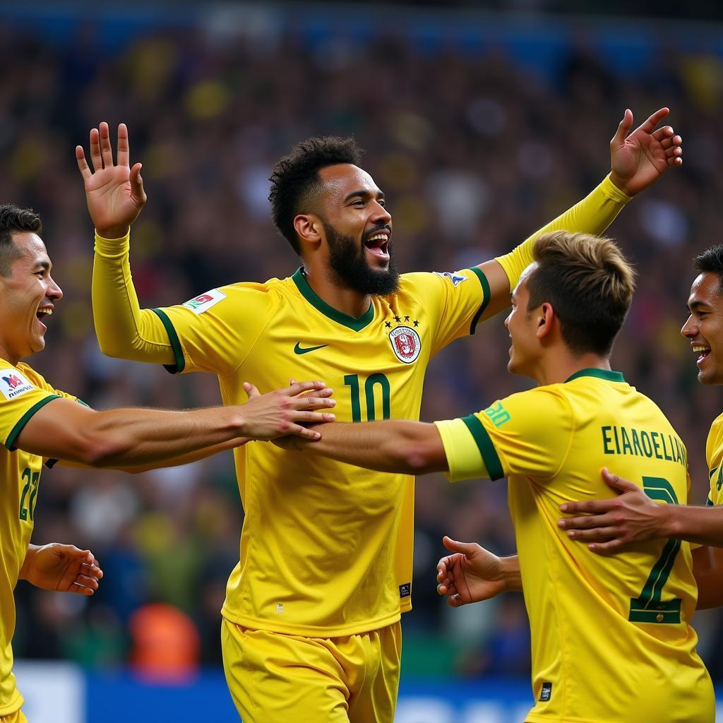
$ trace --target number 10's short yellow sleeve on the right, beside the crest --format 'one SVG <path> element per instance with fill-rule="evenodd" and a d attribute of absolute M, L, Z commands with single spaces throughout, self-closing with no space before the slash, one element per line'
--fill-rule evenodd
<path fill-rule="evenodd" d="M 402 279 L 429 315 L 432 354 L 461 336 L 474 334 L 489 304 L 489 282 L 482 270 L 407 273 Z"/>

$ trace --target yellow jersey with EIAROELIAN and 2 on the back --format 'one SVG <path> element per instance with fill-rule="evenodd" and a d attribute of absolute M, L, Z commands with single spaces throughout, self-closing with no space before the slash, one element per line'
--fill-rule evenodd
<path fill-rule="evenodd" d="M 583 369 L 438 427 L 450 479 L 469 476 L 473 451 L 478 471 L 508 476 L 537 701 L 527 720 L 712 723 L 688 543 L 595 555 L 557 526 L 562 502 L 612 496 L 604 466 L 688 502 L 685 446 L 659 408 L 619 373 Z"/>

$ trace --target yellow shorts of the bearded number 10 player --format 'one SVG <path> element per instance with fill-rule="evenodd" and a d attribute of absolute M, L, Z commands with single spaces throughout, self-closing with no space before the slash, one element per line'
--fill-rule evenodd
<path fill-rule="evenodd" d="M 343 638 L 221 623 L 223 669 L 244 723 L 391 723 L 401 625 Z"/>

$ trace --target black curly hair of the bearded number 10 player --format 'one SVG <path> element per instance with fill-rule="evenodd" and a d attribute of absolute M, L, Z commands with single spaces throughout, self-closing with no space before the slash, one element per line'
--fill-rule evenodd
<path fill-rule="evenodd" d="M 299 213 L 318 212 L 318 193 L 322 188 L 319 171 L 337 163 L 359 166 L 364 151 L 354 138 L 325 136 L 307 138 L 297 143 L 291 153 L 283 156 L 271 171 L 271 218 L 279 234 L 299 254 L 301 245 L 296 236 L 294 218 Z"/>

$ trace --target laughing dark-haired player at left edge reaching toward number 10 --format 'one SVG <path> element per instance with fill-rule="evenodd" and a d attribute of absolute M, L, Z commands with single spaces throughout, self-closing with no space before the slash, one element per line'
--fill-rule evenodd
<path fill-rule="evenodd" d="M 269 439 L 299 422 L 319 420 L 333 405 L 321 382 L 302 382 L 258 395 L 244 406 L 194 411 L 93 411 L 53 388 L 20 359 L 45 346 L 46 323 L 62 297 L 30 210 L 0 205 L 0 721 L 25 720 L 12 674 L 13 590 L 19 578 L 52 589 L 89 594 L 100 569 L 87 550 L 30 544 L 43 462 L 143 471 L 199 459 Z M 299 395 L 316 390 L 317 397 Z M 80 402 L 80 403 L 79 403 Z M 332 415 L 325 414 L 326 419 Z M 77 583 L 77 584 L 76 584 Z M 82 589 L 81 589 L 82 588 Z"/>

